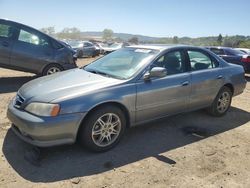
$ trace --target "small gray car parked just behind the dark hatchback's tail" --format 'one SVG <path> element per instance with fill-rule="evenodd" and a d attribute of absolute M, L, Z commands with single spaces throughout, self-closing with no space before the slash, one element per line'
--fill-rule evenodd
<path fill-rule="evenodd" d="M 71 40 L 68 44 L 76 51 L 77 57 L 95 57 L 100 54 L 92 42 Z"/>

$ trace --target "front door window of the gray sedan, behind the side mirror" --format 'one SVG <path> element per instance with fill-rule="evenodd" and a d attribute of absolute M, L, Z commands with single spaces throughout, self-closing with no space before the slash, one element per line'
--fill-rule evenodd
<path fill-rule="evenodd" d="M 180 51 L 168 52 L 158 58 L 153 64 L 154 67 L 166 68 L 168 75 L 184 72 L 184 59 Z"/>

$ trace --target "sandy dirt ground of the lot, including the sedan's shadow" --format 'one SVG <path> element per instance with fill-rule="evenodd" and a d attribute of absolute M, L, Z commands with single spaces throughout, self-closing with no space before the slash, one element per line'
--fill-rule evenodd
<path fill-rule="evenodd" d="M 250 187 L 250 77 L 225 117 L 177 115 L 128 130 L 106 153 L 75 144 L 32 160 L 38 151 L 9 130 L 6 109 L 34 78 L 0 68 L 0 187 Z"/>

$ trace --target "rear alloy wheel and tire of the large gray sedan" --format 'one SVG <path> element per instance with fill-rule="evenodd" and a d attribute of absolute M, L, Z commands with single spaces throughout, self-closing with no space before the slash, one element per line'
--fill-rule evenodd
<path fill-rule="evenodd" d="M 231 89 L 223 86 L 208 109 L 209 113 L 215 117 L 225 115 L 231 106 L 232 95 Z"/>

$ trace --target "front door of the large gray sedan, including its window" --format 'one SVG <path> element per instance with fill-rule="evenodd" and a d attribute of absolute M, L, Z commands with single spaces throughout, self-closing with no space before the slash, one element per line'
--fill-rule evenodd
<path fill-rule="evenodd" d="M 152 67 L 164 67 L 167 76 L 143 78 L 136 83 L 136 122 L 144 122 L 187 110 L 191 92 L 191 76 L 186 71 L 182 51 L 167 52 L 158 58 Z"/>

